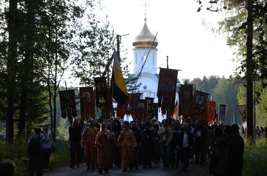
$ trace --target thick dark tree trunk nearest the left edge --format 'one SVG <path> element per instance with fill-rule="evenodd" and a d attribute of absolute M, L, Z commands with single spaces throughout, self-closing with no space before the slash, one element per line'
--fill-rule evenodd
<path fill-rule="evenodd" d="M 15 14 L 17 2 L 9 0 L 9 56 L 7 60 L 7 121 L 6 121 L 6 139 L 9 143 L 14 141 L 14 88 L 15 88 L 15 62 L 16 62 L 16 41 L 15 41 Z"/>

